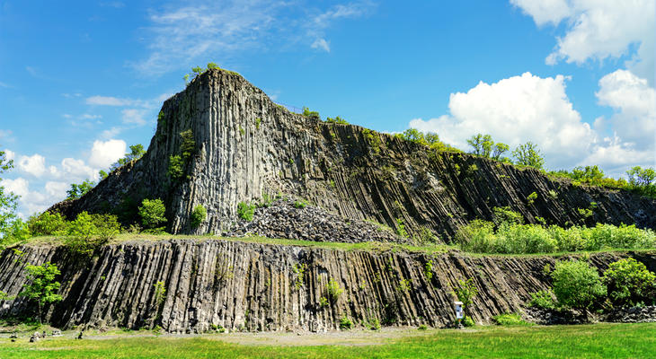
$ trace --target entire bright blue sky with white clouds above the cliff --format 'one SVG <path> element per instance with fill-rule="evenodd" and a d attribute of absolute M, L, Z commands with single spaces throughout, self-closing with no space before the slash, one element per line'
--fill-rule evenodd
<path fill-rule="evenodd" d="M 149 144 L 210 61 L 324 118 L 533 141 L 550 169 L 619 176 L 656 157 L 655 18 L 652 0 L 0 1 L 2 185 L 22 215 L 63 199 Z"/>

